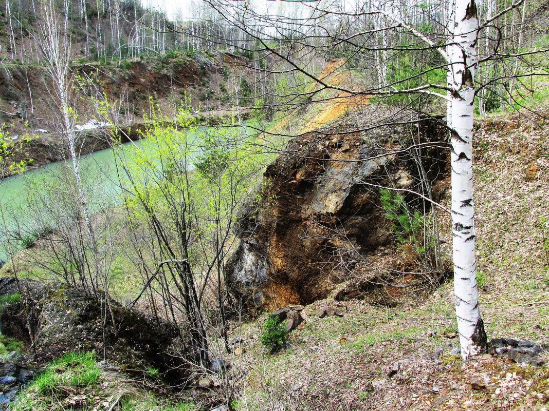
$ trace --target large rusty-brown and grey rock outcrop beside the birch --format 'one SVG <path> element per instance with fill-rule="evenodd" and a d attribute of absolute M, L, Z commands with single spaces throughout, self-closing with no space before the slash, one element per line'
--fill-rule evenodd
<path fill-rule="evenodd" d="M 309 133 L 290 141 L 243 207 L 228 286 L 248 306 L 266 310 L 326 297 L 357 261 L 395 241 L 380 187 L 422 191 L 420 174 L 444 178 L 449 153 L 444 143 L 429 144 L 444 140 L 436 121 L 418 121 L 377 129 L 374 138 Z M 412 144 L 422 150 L 401 150 Z M 401 192 L 423 210 L 419 197 Z"/>

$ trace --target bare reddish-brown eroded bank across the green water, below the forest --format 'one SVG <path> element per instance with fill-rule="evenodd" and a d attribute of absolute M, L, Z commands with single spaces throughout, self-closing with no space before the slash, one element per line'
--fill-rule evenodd
<path fill-rule="evenodd" d="M 219 60 L 219 61 L 218 61 Z M 228 89 L 239 84 L 238 66 L 223 64 L 223 55 L 211 57 L 184 53 L 152 56 L 124 64 L 71 65 L 74 83 L 70 101 L 77 111 L 76 128 L 90 121 L 103 120 L 94 106 L 92 95 L 103 95 L 111 104 L 122 137 L 139 139 L 143 116 L 175 118 L 180 109 L 192 111 L 205 123 L 221 116 L 249 110 L 231 111 L 235 98 Z M 66 144 L 59 134 L 60 111 L 52 80 L 40 65 L 7 64 L 0 72 L 0 121 L 3 139 L 10 143 L 25 141 L 11 161 L 29 161 L 27 168 L 37 167 L 66 157 Z M 236 73 L 239 73 L 237 75 Z M 108 116 L 110 118 L 110 115 Z M 79 133 L 80 153 L 87 154 L 109 146 L 100 129 Z"/>

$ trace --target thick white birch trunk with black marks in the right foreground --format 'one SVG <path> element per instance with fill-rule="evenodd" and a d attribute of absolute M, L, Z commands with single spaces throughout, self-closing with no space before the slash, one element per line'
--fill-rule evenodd
<path fill-rule="evenodd" d="M 467 359 L 486 347 L 478 305 L 473 206 L 473 82 L 478 30 L 475 0 L 456 0 L 453 21 L 450 121 L 454 293 L 461 356 Z"/>

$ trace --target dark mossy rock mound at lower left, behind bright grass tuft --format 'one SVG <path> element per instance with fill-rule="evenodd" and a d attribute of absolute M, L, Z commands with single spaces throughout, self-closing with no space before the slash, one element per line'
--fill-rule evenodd
<path fill-rule="evenodd" d="M 155 368 L 170 382 L 187 373 L 184 360 L 170 355 L 180 330 L 94 295 L 80 287 L 0 278 L 0 297 L 20 293 L 13 304 L 0 307 L 3 334 L 24 341 L 26 357 L 44 364 L 66 352 L 95 351 L 122 370 L 140 373 Z M 26 313 L 25 313 L 26 311 Z M 28 320 L 27 320 L 28 318 Z M 29 326 L 32 333 L 29 332 Z M 32 341 L 33 340 L 33 341 Z"/>

